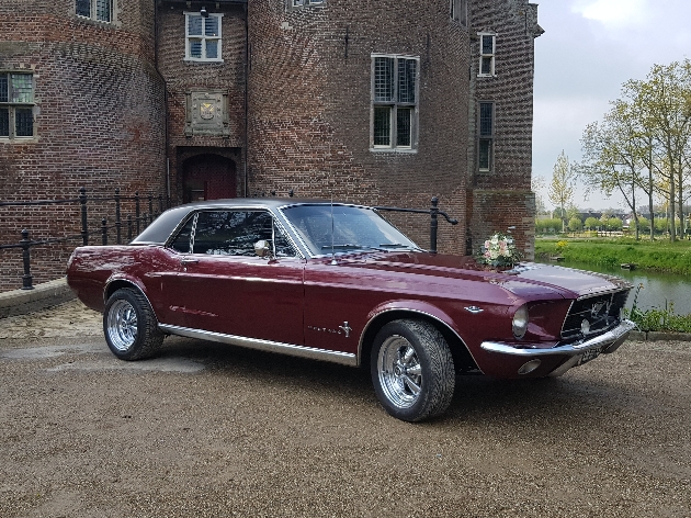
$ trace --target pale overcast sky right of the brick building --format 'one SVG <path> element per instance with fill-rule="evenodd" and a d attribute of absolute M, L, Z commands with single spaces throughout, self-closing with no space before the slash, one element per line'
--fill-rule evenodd
<path fill-rule="evenodd" d="M 545 33 L 535 40 L 533 177 L 548 183 L 562 150 L 579 161 L 587 124 L 601 121 L 628 79 L 655 64 L 691 58 L 691 0 L 533 0 Z M 543 199 L 551 207 L 546 190 Z M 624 207 L 578 192 L 579 209 Z"/>

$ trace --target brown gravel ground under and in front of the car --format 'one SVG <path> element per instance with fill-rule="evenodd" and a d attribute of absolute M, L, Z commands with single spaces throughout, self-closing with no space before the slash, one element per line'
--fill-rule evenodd
<path fill-rule="evenodd" d="M 410 425 L 366 373 L 169 338 L 123 362 L 72 302 L 0 319 L 0 516 L 689 517 L 691 344 L 458 378 Z"/>

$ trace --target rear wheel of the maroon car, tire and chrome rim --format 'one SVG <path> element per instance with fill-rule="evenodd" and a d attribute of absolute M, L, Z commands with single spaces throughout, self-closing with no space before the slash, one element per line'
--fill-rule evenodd
<path fill-rule="evenodd" d="M 105 341 L 121 360 L 152 357 L 163 342 L 154 309 L 137 290 L 123 288 L 111 295 L 103 312 Z"/>

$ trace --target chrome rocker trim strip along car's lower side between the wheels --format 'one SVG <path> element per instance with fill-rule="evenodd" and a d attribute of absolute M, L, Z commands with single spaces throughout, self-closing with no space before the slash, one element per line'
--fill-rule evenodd
<path fill-rule="evenodd" d="M 168 324 L 159 324 L 158 328 L 169 335 L 184 336 L 188 338 L 200 338 L 202 340 L 218 341 L 220 344 L 229 344 L 233 346 L 247 347 L 260 351 L 280 352 L 299 358 L 309 358 L 311 360 L 329 361 L 331 363 L 340 363 L 342 365 L 356 367 L 358 358 L 351 352 L 331 351 L 326 349 L 316 349 L 314 347 L 295 346 L 292 344 L 282 344 L 280 341 L 261 340 L 259 338 L 247 338 L 236 335 L 224 335 L 223 333 L 205 331 L 203 329 L 191 329 L 189 327 L 170 326 Z"/>

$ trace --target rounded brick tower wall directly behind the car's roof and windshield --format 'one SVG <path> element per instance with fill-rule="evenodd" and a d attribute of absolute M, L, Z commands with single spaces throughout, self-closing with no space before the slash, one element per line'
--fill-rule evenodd
<path fill-rule="evenodd" d="M 448 2 L 285 5 L 249 3 L 250 191 L 408 207 L 428 207 L 438 195 L 463 217 L 468 41 Z M 372 53 L 420 58 L 417 153 L 370 150 Z M 411 221 L 428 246 L 429 218 Z M 440 228 L 441 248 L 464 249 L 465 225 Z"/>

